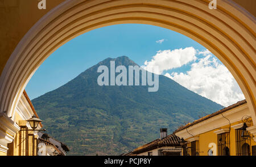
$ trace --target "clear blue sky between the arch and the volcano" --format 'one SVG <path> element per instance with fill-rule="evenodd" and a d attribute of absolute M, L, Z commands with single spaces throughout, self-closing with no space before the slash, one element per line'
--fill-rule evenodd
<path fill-rule="evenodd" d="M 170 50 L 167 56 L 179 57 L 177 54 L 180 52 L 174 54 L 172 51 L 181 49 L 182 52 L 182 49 L 189 47 L 197 50 L 196 59 L 180 67 L 167 67 L 162 73 L 163 75 L 168 73 L 170 78 L 178 78 L 179 81 L 179 74 L 187 74 L 193 63 L 199 63 L 202 57 L 205 57 L 198 53 L 205 51 L 206 48 L 196 41 L 153 25 L 120 24 L 94 29 L 67 42 L 51 54 L 32 76 L 26 91 L 30 99 L 34 99 L 69 82 L 87 68 L 108 57 L 126 55 L 138 65 L 144 65 L 145 61 L 157 62 L 159 59 L 153 57 L 157 53 L 159 56 L 156 58 L 163 56 L 163 52 L 159 50 Z M 214 55 L 211 54 L 211 58 L 215 58 Z M 217 63 L 222 65 L 218 59 Z"/>

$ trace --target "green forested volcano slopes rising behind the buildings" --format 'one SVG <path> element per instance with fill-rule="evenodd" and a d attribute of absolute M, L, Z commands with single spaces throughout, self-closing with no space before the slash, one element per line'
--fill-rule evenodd
<path fill-rule="evenodd" d="M 128 57 L 107 58 L 67 84 L 34 100 L 47 133 L 68 145 L 68 155 L 120 155 L 168 134 L 199 115 L 223 106 L 159 75 L 159 90 L 147 86 L 100 86 L 97 68 L 137 65 Z"/>

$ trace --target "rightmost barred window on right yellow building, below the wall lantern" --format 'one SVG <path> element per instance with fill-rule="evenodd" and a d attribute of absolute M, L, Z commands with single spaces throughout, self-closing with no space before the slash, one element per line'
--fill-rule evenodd
<path fill-rule="evenodd" d="M 236 155 L 237 156 L 250 156 L 251 151 L 250 151 L 250 145 L 251 145 L 251 140 L 250 138 L 248 139 L 243 139 L 241 137 L 242 135 L 241 129 L 236 129 Z"/>

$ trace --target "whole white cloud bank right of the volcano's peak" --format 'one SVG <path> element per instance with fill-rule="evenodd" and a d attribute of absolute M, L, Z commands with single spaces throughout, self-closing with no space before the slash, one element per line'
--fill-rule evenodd
<path fill-rule="evenodd" d="M 189 62 L 192 63 L 191 70 L 172 74 L 165 72 L 187 65 Z M 145 61 L 142 67 L 156 74 L 164 74 L 189 90 L 223 106 L 245 99 L 228 68 L 219 63 L 209 50 L 200 51 L 193 47 L 159 50 L 151 61 Z M 158 67 L 159 71 L 151 70 L 155 67 Z"/>

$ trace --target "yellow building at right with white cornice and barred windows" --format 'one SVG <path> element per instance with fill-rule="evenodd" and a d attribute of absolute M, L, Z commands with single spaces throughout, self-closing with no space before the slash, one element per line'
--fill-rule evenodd
<path fill-rule="evenodd" d="M 255 156 L 256 138 L 249 132 L 251 127 L 249 108 L 242 100 L 188 123 L 174 134 L 187 142 L 183 155 Z"/>

